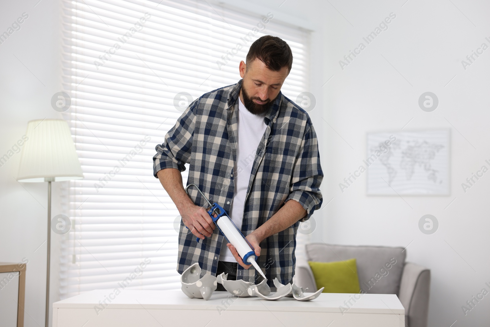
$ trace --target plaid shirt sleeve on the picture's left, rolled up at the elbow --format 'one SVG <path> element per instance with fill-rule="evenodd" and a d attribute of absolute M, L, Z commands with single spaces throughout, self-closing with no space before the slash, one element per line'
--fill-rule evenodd
<path fill-rule="evenodd" d="M 162 144 L 155 147 L 153 156 L 153 176 L 165 168 L 185 171 L 184 164 L 189 163 L 192 150 L 194 128 L 196 126 L 197 100 L 193 101 L 169 130 Z"/>

